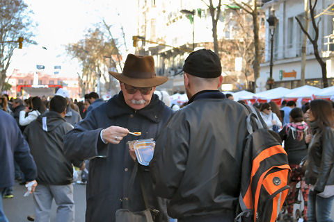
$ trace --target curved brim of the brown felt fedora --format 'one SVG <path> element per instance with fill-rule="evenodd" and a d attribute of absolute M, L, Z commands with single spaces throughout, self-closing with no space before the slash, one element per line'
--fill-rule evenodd
<path fill-rule="evenodd" d="M 167 82 L 167 76 L 154 76 L 154 78 L 130 78 L 124 74 L 119 74 L 118 72 L 109 71 L 109 74 L 127 85 L 132 85 L 134 87 L 154 87 L 162 85 Z"/>

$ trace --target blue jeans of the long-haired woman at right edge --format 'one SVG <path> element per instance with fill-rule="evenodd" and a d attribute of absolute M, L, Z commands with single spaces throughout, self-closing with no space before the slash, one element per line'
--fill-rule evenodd
<path fill-rule="evenodd" d="M 314 191 L 308 194 L 308 222 L 333 222 L 331 208 L 334 196 L 322 198 Z"/>

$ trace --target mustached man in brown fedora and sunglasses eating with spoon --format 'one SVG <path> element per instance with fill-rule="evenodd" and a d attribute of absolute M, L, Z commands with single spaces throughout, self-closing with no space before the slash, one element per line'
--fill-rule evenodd
<path fill-rule="evenodd" d="M 168 78 L 156 76 L 152 56 L 132 54 L 127 56 L 122 74 L 109 73 L 120 81 L 120 93 L 90 111 L 65 135 L 65 155 L 70 160 L 90 159 L 86 221 L 116 221 L 116 210 L 122 208 L 131 212 L 159 210 L 154 221 L 168 221 L 164 200 L 152 192 L 148 167 L 138 165 L 134 183 L 129 186 L 135 155 L 130 155 L 127 146 L 128 141 L 155 139 L 172 115 L 172 110 L 153 94 Z M 145 195 L 141 187 L 145 187 Z"/>

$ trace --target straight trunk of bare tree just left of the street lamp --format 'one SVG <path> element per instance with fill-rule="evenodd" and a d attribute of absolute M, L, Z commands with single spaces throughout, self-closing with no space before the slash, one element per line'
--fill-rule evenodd
<path fill-rule="evenodd" d="M 254 81 L 256 82 L 257 78 L 260 76 L 260 40 L 259 40 L 259 22 L 257 19 L 257 1 L 254 0 L 253 3 L 253 32 L 254 32 L 254 44 L 255 44 L 255 59 L 253 64 L 254 69 Z"/>

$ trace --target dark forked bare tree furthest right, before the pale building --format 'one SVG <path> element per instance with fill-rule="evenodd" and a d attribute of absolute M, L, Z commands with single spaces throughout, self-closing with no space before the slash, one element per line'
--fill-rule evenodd
<path fill-rule="evenodd" d="M 310 42 L 313 45 L 313 51 L 315 53 L 315 58 L 317 59 L 317 61 L 319 62 L 319 65 L 321 67 L 321 74 L 322 74 L 322 83 L 324 88 L 328 87 L 328 79 L 327 79 L 327 70 L 326 70 L 326 62 L 324 62 L 324 60 L 322 60 L 320 54 L 319 54 L 319 48 L 318 48 L 318 39 L 319 39 L 319 22 L 320 19 L 318 20 L 318 22 L 315 22 L 315 7 L 317 6 L 317 1 L 315 0 L 314 5 L 312 6 L 312 1 L 308 1 L 308 6 L 309 6 L 309 10 L 310 10 L 310 18 L 311 18 L 311 22 L 312 22 L 312 27 L 314 28 L 315 31 L 315 37 L 312 39 L 312 37 L 310 36 L 310 34 L 308 33 L 308 31 L 306 31 L 305 27 L 303 26 L 303 24 L 301 24 L 301 21 L 298 17 L 295 17 L 299 26 L 301 27 L 301 30 L 303 31 L 303 33 L 305 35 L 308 36 L 308 40 L 310 40 Z"/>

